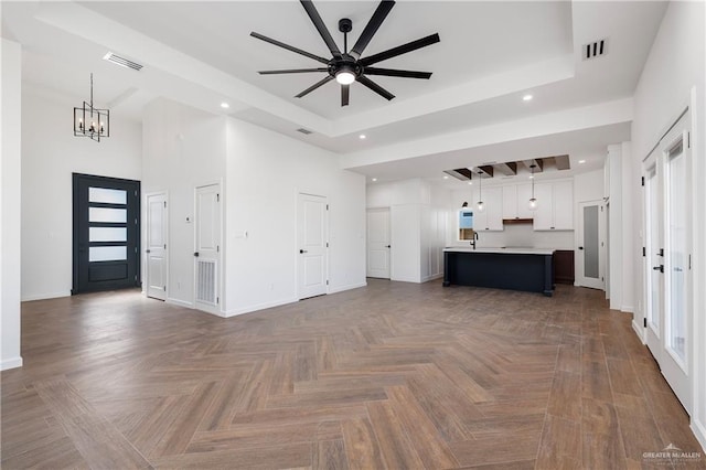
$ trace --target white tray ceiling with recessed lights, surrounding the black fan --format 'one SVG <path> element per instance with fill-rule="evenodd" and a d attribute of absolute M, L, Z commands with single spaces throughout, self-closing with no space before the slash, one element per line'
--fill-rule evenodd
<path fill-rule="evenodd" d="M 353 20 L 353 44 L 377 7 L 314 3 L 340 47 L 338 20 Z M 330 55 L 298 1 L 3 1 L 2 35 L 23 44 L 23 79 L 43 93 L 85 99 L 93 72 L 95 99 L 114 114 L 139 119 L 165 96 L 330 149 L 379 181 L 454 184 L 442 170 L 485 161 L 568 153 L 574 171 L 599 168 L 608 145 L 630 139 L 631 97 L 664 11 L 653 1 L 398 1 L 363 56 L 438 32 L 440 43 L 376 64 L 434 75 L 373 77 L 396 95 L 389 103 L 353 84 L 344 108 L 335 83 L 293 97 L 323 74 L 257 74 L 319 64 L 250 31 Z M 603 38 L 608 54 L 582 61 L 581 45 Z M 145 68 L 109 64 L 107 51 Z"/>

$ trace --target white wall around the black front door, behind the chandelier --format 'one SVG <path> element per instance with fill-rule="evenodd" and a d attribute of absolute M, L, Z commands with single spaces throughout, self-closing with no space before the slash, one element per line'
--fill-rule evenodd
<path fill-rule="evenodd" d="M 141 129 L 110 113 L 110 137 L 74 137 L 65 98 L 22 89 L 22 300 L 71 295 L 72 173 L 139 180 Z"/>

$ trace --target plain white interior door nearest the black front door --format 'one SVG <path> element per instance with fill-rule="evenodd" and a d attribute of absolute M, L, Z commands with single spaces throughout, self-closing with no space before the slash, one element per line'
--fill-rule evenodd
<path fill-rule="evenodd" d="M 167 299 L 167 194 L 147 196 L 147 296 Z"/>

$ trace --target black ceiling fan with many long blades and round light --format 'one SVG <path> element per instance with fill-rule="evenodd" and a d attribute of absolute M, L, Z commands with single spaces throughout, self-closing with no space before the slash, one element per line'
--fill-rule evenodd
<path fill-rule="evenodd" d="M 431 72 L 378 68 L 378 67 L 371 67 L 371 65 L 385 61 L 387 58 L 396 57 L 398 55 L 416 51 L 421 47 L 426 47 L 427 45 L 435 44 L 439 42 L 438 33 L 361 58 L 363 51 L 365 50 L 365 47 L 367 47 L 367 44 L 370 44 L 371 40 L 373 39 L 373 35 L 375 35 L 375 33 L 377 32 L 377 29 L 381 26 L 381 24 L 383 24 L 383 21 L 385 21 L 385 18 L 387 18 L 389 10 L 392 10 L 392 8 L 395 6 L 394 1 L 383 0 L 379 2 L 379 4 L 377 6 L 377 9 L 375 10 L 375 13 L 373 13 L 373 17 L 365 25 L 365 29 L 361 33 L 361 36 L 357 39 L 356 43 L 353 45 L 353 49 L 351 49 L 350 51 L 347 50 L 347 33 L 352 30 L 353 22 L 347 18 L 343 18 L 339 20 L 339 31 L 343 33 L 343 52 L 339 50 L 338 45 L 333 41 L 333 38 L 331 38 L 331 33 L 327 29 L 325 24 L 323 24 L 323 20 L 321 20 L 321 17 L 319 15 L 317 8 L 313 6 L 313 2 L 311 2 L 311 0 L 300 0 L 300 1 L 301 1 L 301 6 L 307 11 L 307 14 L 309 14 L 311 22 L 317 28 L 317 31 L 319 31 L 319 34 L 321 34 L 323 42 L 327 44 L 327 47 L 329 47 L 329 51 L 331 51 L 331 55 L 332 55 L 331 58 L 320 57 L 315 54 L 311 54 L 307 51 L 302 51 L 301 49 L 291 46 L 289 44 L 285 44 L 280 41 L 274 40 L 271 38 L 267 38 L 256 32 L 250 33 L 253 38 L 257 38 L 261 41 L 268 42 L 279 47 L 284 47 L 297 54 L 301 54 L 306 57 L 313 58 L 314 61 L 318 61 L 327 65 L 325 67 L 318 67 L 318 68 L 292 68 L 292 70 L 285 70 L 285 71 L 259 72 L 260 75 L 300 74 L 300 73 L 310 73 L 310 72 L 328 73 L 328 75 L 323 79 L 317 82 L 315 84 L 311 85 L 309 88 L 304 89 L 299 95 L 297 95 L 296 96 L 297 98 L 301 98 L 302 96 L 308 95 L 309 93 L 313 92 L 320 86 L 331 82 L 332 79 L 335 79 L 338 83 L 341 84 L 341 106 L 349 105 L 350 86 L 353 82 L 359 82 L 360 84 L 365 85 L 373 92 L 381 95 L 383 98 L 386 98 L 389 100 L 389 99 L 393 99 L 395 95 L 393 95 L 392 93 L 389 93 L 388 90 L 386 90 L 385 88 L 383 88 L 382 86 L 377 85 L 375 82 L 370 79 L 367 75 L 382 75 L 382 76 L 403 77 L 403 78 L 427 78 L 427 79 L 431 76 Z"/>

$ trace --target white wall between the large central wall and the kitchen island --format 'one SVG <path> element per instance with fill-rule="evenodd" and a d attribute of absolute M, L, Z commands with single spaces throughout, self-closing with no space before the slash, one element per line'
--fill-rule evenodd
<path fill-rule="evenodd" d="M 368 209 L 389 207 L 392 280 L 425 282 L 443 275 L 449 197 L 421 179 L 367 186 Z"/>

